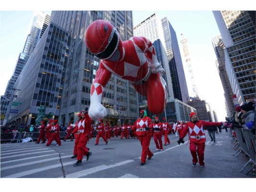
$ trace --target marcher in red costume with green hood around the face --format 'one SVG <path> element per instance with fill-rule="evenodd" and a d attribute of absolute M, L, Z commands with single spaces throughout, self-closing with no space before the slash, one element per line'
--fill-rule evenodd
<path fill-rule="evenodd" d="M 151 129 L 153 128 L 152 120 L 146 116 L 146 111 L 140 111 L 140 117 L 135 122 L 136 126 L 136 135 L 140 140 L 140 144 L 142 146 L 142 153 L 141 153 L 141 162 L 140 165 L 146 164 L 146 156 L 147 159 L 151 159 L 154 155 L 150 149 L 149 144 L 151 140 Z"/>

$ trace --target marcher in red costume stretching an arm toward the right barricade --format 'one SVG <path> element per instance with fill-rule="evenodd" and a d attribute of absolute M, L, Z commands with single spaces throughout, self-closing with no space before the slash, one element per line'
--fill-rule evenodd
<path fill-rule="evenodd" d="M 178 140 L 178 144 L 184 143 L 183 138 L 189 132 L 189 149 L 192 155 L 192 166 L 195 167 L 196 163 L 199 162 L 200 167 L 204 167 L 204 153 L 205 153 L 205 142 L 206 135 L 204 132 L 204 127 L 208 126 L 221 126 L 222 122 L 207 122 L 204 120 L 198 120 L 195 112 L 190 113 L 191 121 L 186 123 L 185 128 L 183 128 Z M 197 159 L 198 156 L 198 159 Z"/>

